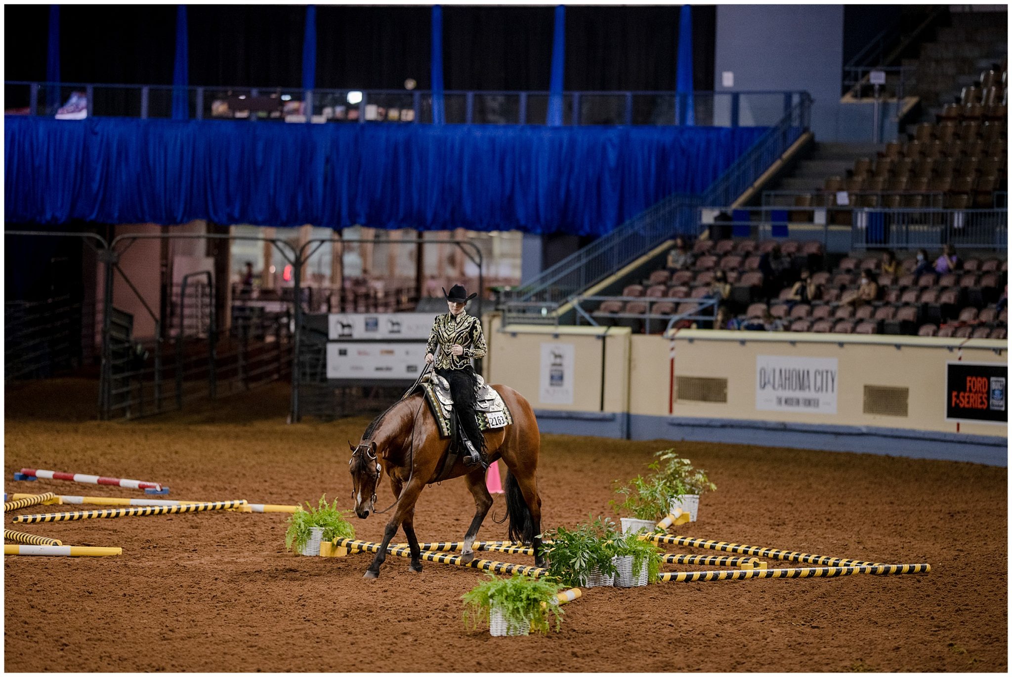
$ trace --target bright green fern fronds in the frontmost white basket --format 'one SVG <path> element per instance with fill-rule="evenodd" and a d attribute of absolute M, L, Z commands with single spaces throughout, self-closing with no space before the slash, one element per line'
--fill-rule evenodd
<path fill-rule="evenodd" d="M 549 578 L 530 578 L 513 574 L 513 578 L 489 580 L 463 594 L 463 623 L 472 629 L 489 623 L 492 607 L 498 608 L 509 626 L 530 624 L 536 632 L 547 633 L 555 620 L 556 631 L 562 625 L 563 610 L 554 603 L 560 584 Z"/>

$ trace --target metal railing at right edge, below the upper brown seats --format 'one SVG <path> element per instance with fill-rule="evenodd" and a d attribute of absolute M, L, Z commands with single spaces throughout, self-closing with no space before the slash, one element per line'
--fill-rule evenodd
<path fill-rule="evenodd" d="M 1008 248 L 1008 209 L 855 209 L 851 247 Z"/>

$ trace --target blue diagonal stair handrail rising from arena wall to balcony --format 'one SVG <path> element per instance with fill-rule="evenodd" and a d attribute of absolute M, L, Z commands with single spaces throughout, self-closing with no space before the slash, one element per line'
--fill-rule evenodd
<path fill-rule="evenodd" d="M 685 227 L 685 222 L 688 221 L 689 226 L 692 225 L 693 207 L 698 204 L 730 204 L 733 202 L 738 195 L 755 182 L 769 165 L 783 154 L 797 137 L 809 129 L 811 107 L 811 95 L 808 92 L 799 92 L 797 101 L 786 110 L 780 120 L 767 130 L 748 151 L 725 170 L 702 195 L 676 193 L 662 198 L 615 228 L 611 233 L 544 269 L 536 278 L 512 291 L 506 300 L 506 305 L 508 306 L 510 302 L 532 302 L 538 294 L 544 294 L 546 298 L 543 301 L 545 302 L 558 303 L 625 266 L 673 235 L 690 233 L 691 230 Z M 793 134 L 792 130 L 796 131 L 796 134 Z M 653 230 L 658 230 L 658 222 L 672 218 L 674 223 L 671 225 L 674 228 L 663 229 L 653 238 L 645 233 L 651 226 L 654 227 Z M 607 261 L 607 272 L 591 276 L 588 279 L 586 273 L 594 257 L 607 250 L 618 251 L 619 247 L 637 235 L 644 236 L 645 244 L 624 256 L 620 254 L 610 256 Z M 565 276 L 575 272 L 580 273 L 580 282 L 574 288 L 553 289 L 553 285 L 558 287 Z"/>

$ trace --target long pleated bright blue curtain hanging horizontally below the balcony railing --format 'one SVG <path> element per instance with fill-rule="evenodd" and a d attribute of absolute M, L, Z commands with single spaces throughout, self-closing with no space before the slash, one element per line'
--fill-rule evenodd
<path fill-rule="evenodd" d="M 766 128 L 8 116 L 7 222 L 603 235 L 701 193 Z"/>

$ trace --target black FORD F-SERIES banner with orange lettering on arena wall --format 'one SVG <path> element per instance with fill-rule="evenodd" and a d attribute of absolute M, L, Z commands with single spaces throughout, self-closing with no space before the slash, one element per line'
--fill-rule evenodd
<path fill-rule="evenodd" d="M 1008 423 L 1008 364 L 945 363 L 945 420 Z"/>

